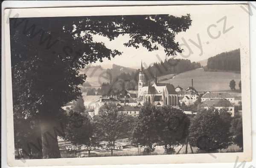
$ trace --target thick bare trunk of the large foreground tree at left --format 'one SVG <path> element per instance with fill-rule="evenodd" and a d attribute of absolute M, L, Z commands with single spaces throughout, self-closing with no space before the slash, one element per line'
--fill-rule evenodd
<path fill-rule="evenodd" d="M 54 115 L 43 113 L 40 126 L 43 158 L 60 158 L 61 154 L 57 140 L 59 129 Z"/>

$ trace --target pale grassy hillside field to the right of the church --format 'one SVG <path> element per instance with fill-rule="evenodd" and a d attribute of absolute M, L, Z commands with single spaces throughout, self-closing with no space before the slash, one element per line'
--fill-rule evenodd
<path fill-rule="evenodd" d="M 172 75 L 172 74 L 170 74 Z M 161 78 L 166 78 L 161 76 Z M 178 85 L 186 89 L 191 86 L 191 79 L 193 78 L 194 87 L 198 91 L 219 91 L 230 90 L 229 83 L 232 79 L 236 81 L 236 89 L 239 89 L 239 81 L 241 75 L 234 72 L 205 72 L 202 68 L 191 70 L 175 75 L 172 79 L 160 81 L 162 83 L 170 83 L 175 87 Z"/>

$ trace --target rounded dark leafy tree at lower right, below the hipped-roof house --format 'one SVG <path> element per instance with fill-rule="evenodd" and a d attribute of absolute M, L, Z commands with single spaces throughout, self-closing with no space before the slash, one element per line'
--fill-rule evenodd
<path fill-rule="evenodd" d="M 201 109 L 189 127 L 190 145 L 207 152 L 227 148 L 232 141 L 230 121 L 231 114 L 227 110 Z"/>

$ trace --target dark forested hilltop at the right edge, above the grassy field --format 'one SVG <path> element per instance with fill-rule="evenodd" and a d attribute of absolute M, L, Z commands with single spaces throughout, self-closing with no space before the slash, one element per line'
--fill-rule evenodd
<path fill-rule="evenodd" d="M 208 58 L 205 71 L 240 71 L 240 49 L 230 52 L 222 52 L 214 57 Z"/>

